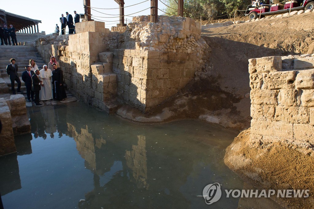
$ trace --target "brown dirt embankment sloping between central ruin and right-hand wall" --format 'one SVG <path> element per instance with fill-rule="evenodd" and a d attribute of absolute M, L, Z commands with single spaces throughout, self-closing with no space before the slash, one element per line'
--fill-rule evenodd
<path fill-rule="evenodd" d="M 198 118 L 225 127 L 250 127 L 248 59 L 314 53 L 314 13 L 202 30 L 210 49 L 206 65 L 179 93 L 143 115 L 122 107 L 118 114 L 142 122 Z"/>

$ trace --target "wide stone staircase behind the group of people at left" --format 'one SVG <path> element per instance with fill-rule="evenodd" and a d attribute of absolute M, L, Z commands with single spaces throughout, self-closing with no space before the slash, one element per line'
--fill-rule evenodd
<path fill-rule="evenodd" d="M 26 94 L 26 88 L 22 81 L 21 75 L 25 71 L 25 66 L 29 65 L 30 59 L 34 59 L 38 68 L 42 69 L 45 64 L 36 47 L 31 46 L 0 46 L 0 93 L 12 93 L 11 81 L 7 74 L 6 67 L 10 64 L 10 59 L 14 58 L 19 66 L 19 77 L 22 82 L 21 90 Z M 17 83 L 15 82 L 15 89 Z"/>

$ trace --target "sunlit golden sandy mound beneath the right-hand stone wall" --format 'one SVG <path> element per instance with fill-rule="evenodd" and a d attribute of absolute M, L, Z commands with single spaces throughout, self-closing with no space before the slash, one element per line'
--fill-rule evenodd
<path fill-rule="evenodd" d="M 242 131 L 227 147 L 225 164 L 257 189 L 309 189 L 308 198 L 273 198 L 285 208 L 314 207 L 314 157 L 285 142 L 250 141 L 250 129 Z"/>

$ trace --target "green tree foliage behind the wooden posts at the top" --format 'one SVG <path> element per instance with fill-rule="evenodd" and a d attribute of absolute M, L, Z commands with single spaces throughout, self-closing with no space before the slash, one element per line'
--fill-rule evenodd
<path fill-rule="evenodd" d="M 177 15 L 178 0 L 163 0 L 163 2 L 171 7 L 159 3 L 159 8 L 165 8 L 164 11 L 169 13 L 166 15 Z M 251 0 L 184 0 L 184 16 L 198 18 L 202 15 L 204 19 L 212 19 L 224 15 L 220 18 L 229 18 L 233 16 L 233 11 L 245 10 L 249 4 Z M 237 12 L 237 14 L 243 13 Z"/>

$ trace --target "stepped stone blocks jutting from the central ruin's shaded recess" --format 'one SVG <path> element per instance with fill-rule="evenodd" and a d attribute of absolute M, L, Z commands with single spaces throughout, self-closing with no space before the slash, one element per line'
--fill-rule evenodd
<path fill-rule="evenodd" d="M 96 99 L 94 105 L 100 109 L 106 110 L 109 114 L 113 114 L 118 107 L 118 102 L 116 100 L 117 78 L 116 73 L 112 71 L 113 53 L 99 53 L 99 60 L 100 62 L 90 66 L 93 74 L 92 88 Z"/>

